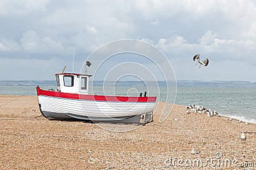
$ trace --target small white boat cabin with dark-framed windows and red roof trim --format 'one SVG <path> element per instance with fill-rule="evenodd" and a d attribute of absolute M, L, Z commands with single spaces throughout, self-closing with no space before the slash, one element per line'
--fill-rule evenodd
<path fill-rule="evenodd" d="M 59 92 L 88 94 L 89 78 L 92 75 L 77 73 L 56 73 Z"/>

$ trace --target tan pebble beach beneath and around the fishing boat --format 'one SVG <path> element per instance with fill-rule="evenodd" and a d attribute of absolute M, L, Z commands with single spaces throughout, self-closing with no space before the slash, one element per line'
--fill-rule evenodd
<path fill-rule="evenodd" d="M 164 104 L 154 122 L 114 132 L 103 123 L 48 120 L 36 96 L 2 95 L 0 169 L 256 169 L 256 124 L 176 104 L 159 122 Z"/>

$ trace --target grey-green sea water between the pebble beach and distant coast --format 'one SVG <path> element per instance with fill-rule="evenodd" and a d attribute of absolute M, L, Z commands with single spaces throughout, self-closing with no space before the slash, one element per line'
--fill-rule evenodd
<path fill-rule="evenodd" d="M 56 89 L 54 86 L 42 86 L 41 89 Z M 166 99 L 166 87 L 93 87 L 91 94 L 138 96 L 147 91 L 147 96 L 157 96 L 157 101 L 180 105 L 195 104 L 211 108 L 226 117 L 236 118 L 256 124 L 256 89 L 237 87 L 177 87 L 177 95 L 172 91 Z M 0 86 L 1 95 L 36 96 L 34 86 Z M 8 101 L 6 101 L 8 102 Z M 14 102 L 14 101 L 13 101 Z"/>

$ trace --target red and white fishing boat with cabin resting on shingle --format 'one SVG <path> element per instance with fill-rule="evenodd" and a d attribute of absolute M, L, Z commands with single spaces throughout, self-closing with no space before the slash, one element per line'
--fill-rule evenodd
<path fill-rule="evenodd" d="M 51 120 L 148 123 L 153 120 L 156 97 L 89 94 L 90 74 L 56 73 L 58 89 L 36 87 L 38 104 Z"/>

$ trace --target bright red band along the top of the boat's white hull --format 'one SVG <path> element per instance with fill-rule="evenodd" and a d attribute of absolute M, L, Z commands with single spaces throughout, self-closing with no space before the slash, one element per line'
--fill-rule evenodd
<path fill-rule="evenodd" d="M 111 101 L 111 102 L 156 102 L 156 97 L 124 97 L 124 96 L 97 96 L 87 94 L 70 94 L 63 92 L 53 92 L 49 90 L 42 90 L 36 87 L 37 96 L 51 96 L 67 99 L 81 99 L 88 101 Z"/>

